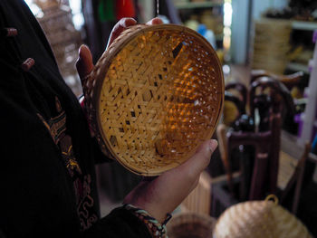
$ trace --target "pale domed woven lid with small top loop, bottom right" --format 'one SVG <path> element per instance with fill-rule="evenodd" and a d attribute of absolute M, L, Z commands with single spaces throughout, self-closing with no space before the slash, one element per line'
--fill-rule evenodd
<path fill-rule="evenodd" d="M 217 220 L 214 237 L 312 238 L 302 222 L 276 201 L 266 199 L 230 206 Z"/>

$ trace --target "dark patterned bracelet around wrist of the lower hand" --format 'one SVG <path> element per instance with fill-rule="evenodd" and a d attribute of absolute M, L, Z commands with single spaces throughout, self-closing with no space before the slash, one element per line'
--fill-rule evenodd
<path fill-rule="evenodd" d="M 168 238 L 166 224 L 169 219 L 172 218 L 171 214 L 167 214 L 165 221 L 162 224 L 159 224 L 159 222 L 145 210 L 139 209 L 134 205 L 123 205 L 123 207 L 131 211 L 139 218 L 139 220 L 146 224 L 154 238 Z"/>

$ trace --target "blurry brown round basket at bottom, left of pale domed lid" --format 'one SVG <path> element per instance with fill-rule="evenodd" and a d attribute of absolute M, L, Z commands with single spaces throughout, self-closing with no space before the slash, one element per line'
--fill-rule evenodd
<path fill-rule="evenodd" d="M 207 214 L 177 214 L 168 222 L 168 238 L 212 238 L 215 224 Z"/>

